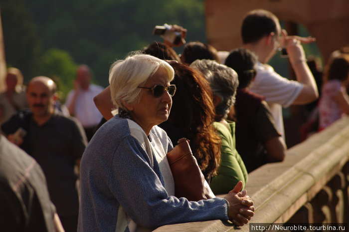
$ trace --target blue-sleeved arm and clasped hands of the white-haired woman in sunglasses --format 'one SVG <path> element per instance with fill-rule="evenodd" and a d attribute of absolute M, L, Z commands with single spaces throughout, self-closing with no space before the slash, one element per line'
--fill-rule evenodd
<path fill-rule="evenodd" d="M 185 198 L 169 196 L 159 177 L 150 167 L 148 155 L 138 141 L 131 138 L 124 139 L 114 154 L 123 155 L 113 156 L 113 165 L 108 172 L 111 175 L 108 185 L 117 199 L 122 199 L 120 205 L 138 225 L 157 228 L 167 224 L 215 219 L 241 221 L 236 215 L 228 218 L 228 210 L 236 213 L 244 208 L 240 204 L 242 200 L 250 201 L 243 193 L 231 193 L 230 195 L 237 195 L 239 198 L 230 201 L 231 207 L 228 209 L 225 200 L 221 198 L 189 202 Z"/>

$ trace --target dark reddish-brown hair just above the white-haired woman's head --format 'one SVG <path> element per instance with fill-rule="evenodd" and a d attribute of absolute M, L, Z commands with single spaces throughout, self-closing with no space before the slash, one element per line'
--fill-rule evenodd
<path fill-rule="evenodd" d="M 144 47 L 142 51 L 148 55 L 158 57 L 163 60 L 176 60 L 180 62 L 180 58 L 175 50 L 169 45 L 162 42 L 153 42 L 147 47 Z"/>

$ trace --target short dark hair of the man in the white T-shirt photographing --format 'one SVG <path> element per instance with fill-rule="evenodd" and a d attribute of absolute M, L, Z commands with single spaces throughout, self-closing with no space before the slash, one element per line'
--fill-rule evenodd
<path fill-rule="evenodd" d="M 249 11 L 241 26 L 242 42 L 244 44 L 254 43 L 271 32 L 277 33 L 277 23 L 279 23 L 279 19 L 268 10 Z"/>

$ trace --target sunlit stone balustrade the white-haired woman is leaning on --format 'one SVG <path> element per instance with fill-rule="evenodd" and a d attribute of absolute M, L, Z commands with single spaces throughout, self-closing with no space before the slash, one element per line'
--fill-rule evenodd
<path fill-rule="evenodd" d="M 349 117 L 290 148 L 282 163 L 249 174 L 250 223 L 348 223 Z M 218 196 L 223 197 L 223 196 Z M 167 225 L 154 232 L 249 232 L 220 220 Z"/>

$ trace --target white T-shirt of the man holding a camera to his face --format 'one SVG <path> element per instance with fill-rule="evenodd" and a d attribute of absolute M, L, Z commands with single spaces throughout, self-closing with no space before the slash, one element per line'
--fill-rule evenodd
<path fill-rule="evenodd" d="M 289 107 L 301 93 L 303 84 L 280 76 L 269 66 L 257 63 L 257 75 L 252 82 L 250 91 L 265 97 L 275 119 L 277 129 L 285 140 L 282 108 Z"/>

